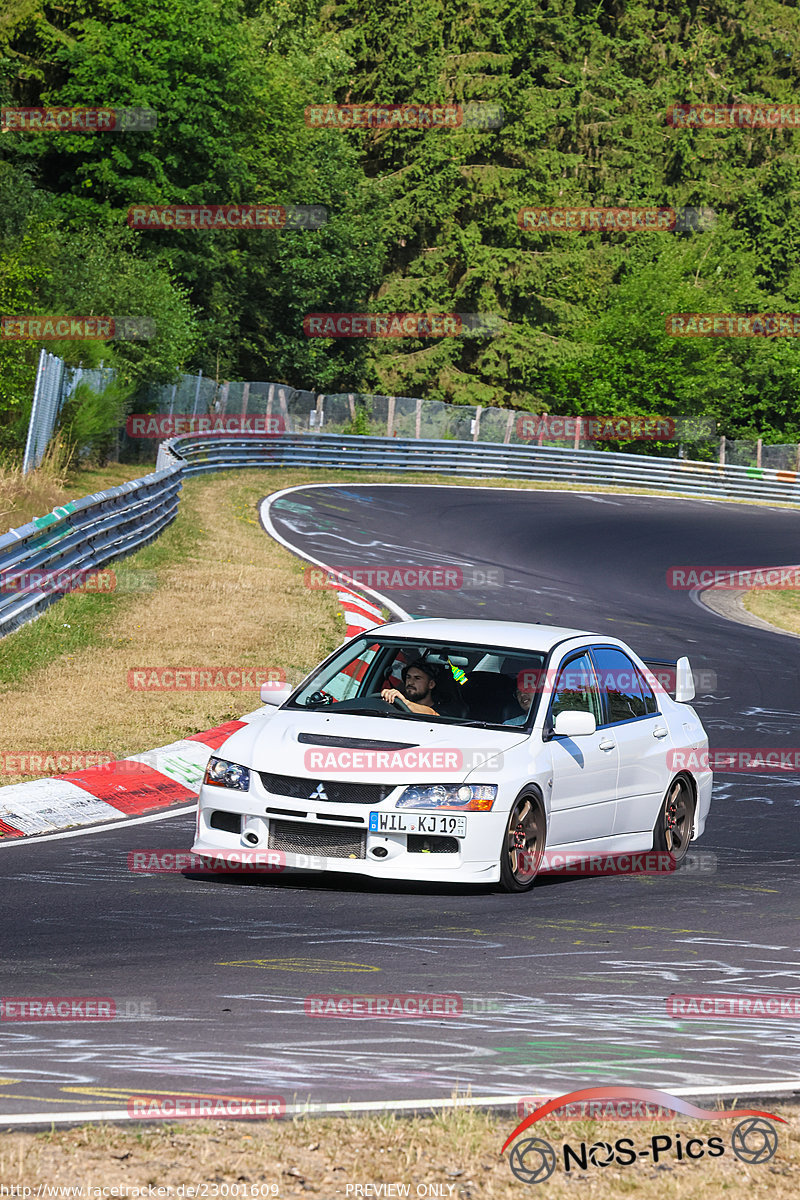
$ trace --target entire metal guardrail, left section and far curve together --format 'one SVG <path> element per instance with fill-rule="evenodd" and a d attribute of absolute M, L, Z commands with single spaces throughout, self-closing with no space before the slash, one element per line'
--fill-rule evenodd
<path fill-rule="evenodd" d="M 577 486 L 644 488 L 669 496 L 752 499 L 800 506 L 800 474 L 690 460 L 551 446 L 439 442 L 344 434 L 162 442 L 156 472 L 55 509 L 0 536 L 0 636 L 56 600 L 59 590 L 23 589 L 31 572 L 91 571 L 156 538 L 178 514 L 181 480 L 216 470 L 265 467 L 345 468 L 402 475 L 432 472 L 465 479 L 524 479 Z"/>

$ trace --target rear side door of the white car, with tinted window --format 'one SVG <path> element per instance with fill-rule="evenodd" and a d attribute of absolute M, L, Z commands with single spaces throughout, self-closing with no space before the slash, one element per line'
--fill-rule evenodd
<path fill-rule="evenodd" d="M 619 746 L 614 834 L 642 833 L 652 829 L 669 782 L 669 730 L 627 654 L 614 646 L 593 646 L 591 658 L 606 708 L 603 732 Z"/>

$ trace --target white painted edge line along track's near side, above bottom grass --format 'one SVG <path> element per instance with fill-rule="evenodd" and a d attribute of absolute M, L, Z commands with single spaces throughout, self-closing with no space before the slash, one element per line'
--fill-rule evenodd
<path fill-rule="evenodd" d="M 633 1085 L 631 1085 L 633 1086 Z M 676 1097 L 704 1097 L 715 1096 L 722 1098 L 748 1098 L 758 1099 L 759 1096 L 774 1097 L 782 1092 L 798 1092 L 800 1091 L 800 1079 L 795 1080 L 776 1080 L 776 1081 L 759 1081 L 757 1084 L 738 1084 L 735 1087 L 723 1086 L 723 1087 L 674 1087 L 670 1091 L 670 1096 Z M 515 1093 L 512 1096 L 467 1096 L 456 1097 L 447 1100 L 443 1099 L 420 1099 L 420 1100 L 363 1100 L 363 1102 L 336 1102 L 330 1103 L 307 1103 L 307 1104 L 287 1104 L 285 1116 L 299 1117 L 299 1116 L 333 1116 L 341 1114 L 343 1116 L 356 1116 L 359 1114 L 369 1112 L 409 1112 L 417 1109 L 429 1109 L 433 1111 L 450 1111 L 456 1109 L 492 1109 L 492 1108 L 511 1108 L 516 1106 L 522 1100 L 530 1100 L 535 1097 L 537 1100 L 546 1103 L 547 1100 L 555 1099 L 561 1096 L 561 1092 L 529 1092 Z M 204 1100 L 215 1099 L 216 1097 L 205 1093 L 203 1097 L 198 1097 Z M 222 1099 L 222 1097 L 221 1097 Z M 157 1117 L 143 1118 L 139 1116 L 132 1116 L 127 1109 L 100 1109 L 92 1112 L 14 1112 L 8 1116 L 0 1116 L 0 1129 L 6 1126 L 22 1126 L 22 1124 L 74 1124 L 85 1121 L 138 1121 L 143 1123 L 152 1123 L 157 1120 L 161 1123 L 173 1123 L 175 1121 L 224 1121 L 224 1117 Z M 231 1118 L 236 1120 L 236 1118 Z M 275 1120 L 267 1117 L 265 1120 Z"/>

